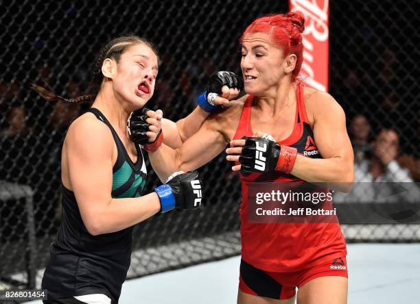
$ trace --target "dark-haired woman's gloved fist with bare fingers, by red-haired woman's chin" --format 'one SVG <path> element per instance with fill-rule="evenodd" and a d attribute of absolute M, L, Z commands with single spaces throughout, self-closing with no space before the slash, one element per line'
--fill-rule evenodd
<path fill-rule="evenodd" d="M 206 112 L 216 112 L 229 104 L 244 89 L 242 77 L 232 72 L 220 71 L 213 74 L 207 90 L 198 97 L 198 105 Z"/>

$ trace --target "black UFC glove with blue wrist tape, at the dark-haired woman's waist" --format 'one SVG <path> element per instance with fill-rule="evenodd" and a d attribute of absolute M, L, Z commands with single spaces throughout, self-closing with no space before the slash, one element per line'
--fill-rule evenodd
<path fill-rule="evenodd" d="M 167 183 L 154 189 L 161 201 L 161 212 L 174 208 L 191 210 L 200 207 L 202 181 L 197 171 L 181 172 L 174 173 Z M 172 177 L 174 175 L 175 177 Z"/>

